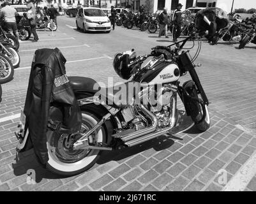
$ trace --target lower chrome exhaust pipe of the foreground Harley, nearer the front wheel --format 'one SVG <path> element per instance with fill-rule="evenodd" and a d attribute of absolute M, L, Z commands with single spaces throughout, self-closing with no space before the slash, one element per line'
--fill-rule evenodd
<path fill-rule="evenodd" d="M 171 117 L 170 117 L 170 126 L 167 128 L 164 128 L 162 130 L 158 130 L 152 134 L 147 134 L 144 136 L 136 137 L 133 140 L 128 140 L 124 144 L 127 145 L 128 147 L 132 147 L 134 145 L 138 145 L 139 143 L 146 142 L 147 140 L 151 140 L 153 138 L 156 138 L 157 136 L 163 135 L 165 133 L 168 133 L 174 126 L 176 126 L 177 123 L 177 113 L 176 113 L 176 106 L 177 106 L 177 92 L 174 92 L 174 96 L 172 96 L 172 101 L 170 105 L 172 106 L 172 112 L 171 112 Z"/>

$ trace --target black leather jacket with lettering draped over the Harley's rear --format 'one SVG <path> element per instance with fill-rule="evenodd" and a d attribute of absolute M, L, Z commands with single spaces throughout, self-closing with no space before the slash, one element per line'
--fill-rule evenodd
<path fill-rule="evenodd" d="M 26 126 L 40 163 L 49 160 L 47 134 L 80 130 L 81 113 L 66 76 L 66 59 L 58 48 L 36 50 L 31 66 L 24 113 Z"/>

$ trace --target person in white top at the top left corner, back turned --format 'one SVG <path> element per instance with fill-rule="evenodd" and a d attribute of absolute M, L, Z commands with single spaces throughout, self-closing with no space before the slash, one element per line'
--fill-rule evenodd
<path fill-rule="evenodd" d="M 12 8 L 8 1 L 4 1 L 1 4 L 2 8 L 0 11 L 0 16 L 4 18 L 4 26 L 6 27 L 8 32 L 13 32 L 15 37 L 19 40 L 19 33 L 16 23 L 15 16 L 17 15 L 17 11 L 15 8 Z"/>

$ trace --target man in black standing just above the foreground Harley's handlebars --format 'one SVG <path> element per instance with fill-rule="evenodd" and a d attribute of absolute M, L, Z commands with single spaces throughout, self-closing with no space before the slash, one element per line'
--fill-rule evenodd
<path fill-rule="evenodd" d="M 174 24 L 173 30 L 172 30 L 172 38 L 173 41 L 176 42 L 177 38 L 181 35 L 181 8 L 183 4 L 179 3 L 177 4 L 177 9 L 174 10 L 174 13 L 172 13 L 172 22 Z"/>

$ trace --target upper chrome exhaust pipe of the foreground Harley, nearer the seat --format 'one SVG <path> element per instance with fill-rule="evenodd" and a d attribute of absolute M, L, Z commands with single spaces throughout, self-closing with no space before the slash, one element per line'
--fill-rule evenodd
<path fill-rule="evenodd" d="M 145 113 L 152 121 L 152 125 L 150 128 L 145 128 L 145 129 L 140 129 L 139 131 L 132 131 L 132 133 L 128 133 L 126 135 L 121 135 L 121 136 L 114 136 L 115 138 L 120 138 L 121 140 L 123 140 L 123 142 L 127 142 L 129 140 L 133 140 L 134 138 L 138 138 L 142 135 L 147 135 L 149 133 L 152 133 L 156 130 L 156 126 L 157 126 L 157 119 L 156 116 L 149 112 L 149 110 L 147 110 L 147 108 L 145 108 L 143 105 L 139 105 L 139 109 L 142 110 L 143 113 Z M 118 133 L 116 134 L 118 135 Z"/>

